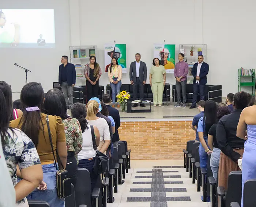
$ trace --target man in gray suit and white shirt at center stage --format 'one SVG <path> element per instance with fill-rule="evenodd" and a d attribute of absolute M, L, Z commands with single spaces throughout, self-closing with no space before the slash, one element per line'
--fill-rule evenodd
<path fill-rule="evenodd" d="M 144 98 L 144 85 L 147 81 L 147 66 L 146 63 L 140 61 L 140 54 L 136 53 L 135 62 L 130 65 L 130 81 L 133 85 L 133 99 L 138 100 L 138 87 L 140 93 L 140 100 L 143 101 Z M 138 104 L 135 103 L 132 107 L 137 107 Z M 146 107 L 143 103 L 140 106 Z"/>

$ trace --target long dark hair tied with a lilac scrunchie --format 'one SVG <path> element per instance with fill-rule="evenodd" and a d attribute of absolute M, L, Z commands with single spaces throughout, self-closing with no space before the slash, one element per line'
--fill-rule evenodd
<path fill-rule="evenodd" d="M 20 100 L 24 108 L 38 106 L 40 109 L 44 103 L 44 89 L 39 83 L 30 82 L 23 86 L 20 92 Z M 25 109 L 23 116 L 19 122 L 19 127 L 31 140 L 35 147 L 38 145 L 39 130 L 44 130 L 44 125 L 41 119 L 41 111 L 27 112 Z M 42 128 L 41 128 L 42 126 Z"/>

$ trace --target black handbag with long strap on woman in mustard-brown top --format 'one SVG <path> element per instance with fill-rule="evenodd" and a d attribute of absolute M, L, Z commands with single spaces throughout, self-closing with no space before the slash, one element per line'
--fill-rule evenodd
<path fill-rule="evenodd" d="M 59 159 L 60 164 L 61 164 L 63 170 L 59 170 L 58 167 L 57 167 L 57 163 L 56 163 L 57 161 L 55 159 L 54 150 L 53 150 L 52 135 L 51 135 L 51 132 L 50 132 L 50 125 L 49 125 L 48 115 L 46 116 L 46 123 L 47 123 L 49 138 L 50 138 L 50 142 L 51 142 L 51 147 L 52 147 L 52 153 L 53 153 L 53 158 L 54 158 L 54 165 L 55 165 L 56 170 L 57 170 L 57 173 L 56 173 L 57 194 L 58 194 L 59 198 L 66 198 L 66 197 L 71 195 L 71 179 L 68 177 L 68 171 L 64 169 L 64 166 L 61 163 L 59 154 L 56 151 L 57 159 Z"/>

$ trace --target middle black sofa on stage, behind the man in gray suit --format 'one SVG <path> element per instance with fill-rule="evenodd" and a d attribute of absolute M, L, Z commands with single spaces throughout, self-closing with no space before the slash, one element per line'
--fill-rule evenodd
<path fill-rule="evenodd" d="M 133 86 L 131 84 L 123 84 L 121 86 L 121 91 L 123 90 L 125 90 L 126 92 L 129 92 L 129 94 L 131 95 L 130 100 L 133 100 Z M 112 94 L 112 90 L 109 84 L 106 87 L 106 92 L 109 93 L 110 95 Z M 139 93 L 139 89 L 138 89 L 138 93 Z M 144 85 L 144 100 L 153 101 L 153 93 L 152 93 L 150 84 Z M 168 105 L 168 102 L 170 102 L 170 85 L 169 84 L 166 84 L 163 90 L 163 102 L 166 102 L 167 105 Z"/>

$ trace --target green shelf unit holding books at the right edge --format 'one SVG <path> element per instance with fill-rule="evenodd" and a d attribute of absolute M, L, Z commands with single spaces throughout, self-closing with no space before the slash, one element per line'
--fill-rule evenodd
<path fill-rule="evenodd" d="M 241 75 L 241 69 L 237 70 L 237 90 L 238 92 L 241 91 L 242 86 L 251 87 L 251 94 L 255 96 L 255 69 L 251 70 L 252 75 Z M 246 80 L 242 80 L 243 78 L 246 78 Z"/>

